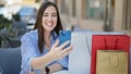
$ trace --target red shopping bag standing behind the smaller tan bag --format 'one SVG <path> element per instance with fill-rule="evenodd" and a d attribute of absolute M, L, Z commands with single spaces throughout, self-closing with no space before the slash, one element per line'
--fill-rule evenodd
<path fill-rule="evenodd" d="M 96 51 L 97 50 L 119 49 L 128 52 L 129 54 L 129 47 L 130 47 L 130 37 L 128 35 L 93 35 L 91 74 L 96 74 Z"/>

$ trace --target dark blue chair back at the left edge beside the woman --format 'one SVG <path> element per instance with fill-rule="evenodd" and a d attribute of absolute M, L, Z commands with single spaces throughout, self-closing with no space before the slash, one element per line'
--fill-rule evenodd
<path fill-rule="evenodd" d="M 21 71 L 21 49 L 0 49 L 0 69 L 2 74 L 20 74 Z"/>

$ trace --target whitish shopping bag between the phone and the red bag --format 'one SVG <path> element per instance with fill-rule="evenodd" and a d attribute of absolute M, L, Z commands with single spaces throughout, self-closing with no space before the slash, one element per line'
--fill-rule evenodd
<path fill-rule="evenodd" d="M 81 32 L 73 32 L 71 45 L 73 50 L 69 54 L 69 74 L 90 74 L 91 53 L 88 51 L 87 35 Z"/>

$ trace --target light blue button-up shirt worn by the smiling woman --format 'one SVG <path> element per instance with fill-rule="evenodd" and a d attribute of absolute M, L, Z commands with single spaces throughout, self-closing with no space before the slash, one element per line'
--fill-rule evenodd
<path fill-rule="evenodd" d="M 56 33 L 51 33 L 50 38 L 51 38 L 50 45 L 52 46 L 56 39 L 58 38 L 58 36 L 56 35 Z M 25 35 L 23 35 L 21 39 L 22 65 L 21 65 L 20 74 L 27 74 L 29 71 L 36 72 L 36 74 L 40 74 L 39 70 L 35 70 L 35 71 L 32 70 L 31 60 L 32 58 L 41 57 L 48 53 L 49 51 L 46 48 L 44 48 L 45 51 L 43 53 L 39 53 L 37 44 L 38 44 L 37 29 L 31 30 L 26 33 Z M 59 63 L 60 65 L 63 66 L 63 69 L 68 69 L 68 57 L 63 58 L 62 60 L 52 61 L 48 65 L 51 65 L 53 63 Z"/>

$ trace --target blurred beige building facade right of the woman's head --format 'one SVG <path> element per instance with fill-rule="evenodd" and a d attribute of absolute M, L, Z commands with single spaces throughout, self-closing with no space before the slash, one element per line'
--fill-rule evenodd
<path fill-rule="evenodd" d="M 57 3 L 66 28 L 126 32 L 131 35 L 130 0 L 50 0 Z"/>

